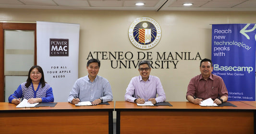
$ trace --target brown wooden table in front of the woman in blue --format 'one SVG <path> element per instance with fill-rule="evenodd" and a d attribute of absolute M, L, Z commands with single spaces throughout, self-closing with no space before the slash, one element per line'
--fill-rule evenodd
<path fill-rule="evenodd" d="M 16 108 L 0 102 L 1 134 L 113 134 L 114 102 L 110 105 Z"/>

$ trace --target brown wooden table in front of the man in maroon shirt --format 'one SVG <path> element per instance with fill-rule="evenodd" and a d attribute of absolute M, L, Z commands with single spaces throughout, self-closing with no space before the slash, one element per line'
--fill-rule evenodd
<path fill-rule="evenodd" d="M 190 102 L 172 106 L 137 106 L 116 101 L 117 134 L 254 134 L 256 107 L 229 101 L 237 107 L 202 107 Z"/>

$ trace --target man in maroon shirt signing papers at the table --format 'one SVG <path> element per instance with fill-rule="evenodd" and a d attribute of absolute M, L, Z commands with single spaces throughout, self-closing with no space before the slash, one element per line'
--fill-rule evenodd
<path fill-rule="evenodd" d="M 201 74 L 192 78 L 188 84 L 186 98 L 189 102 L 200 104 L 211 98 L 217 105 L 228 101 L 228 90 L 223 79 L 212 74 L 213 66 L 210 59 L 200 62 Z"/>

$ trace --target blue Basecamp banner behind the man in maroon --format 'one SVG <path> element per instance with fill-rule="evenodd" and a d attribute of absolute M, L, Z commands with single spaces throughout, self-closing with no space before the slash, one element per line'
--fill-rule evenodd
<path fill-rule="evenodd" d="M 229 101 L 255 101 L 256 24 L 213 24 L 213 74 L 223 78 Z"/>

